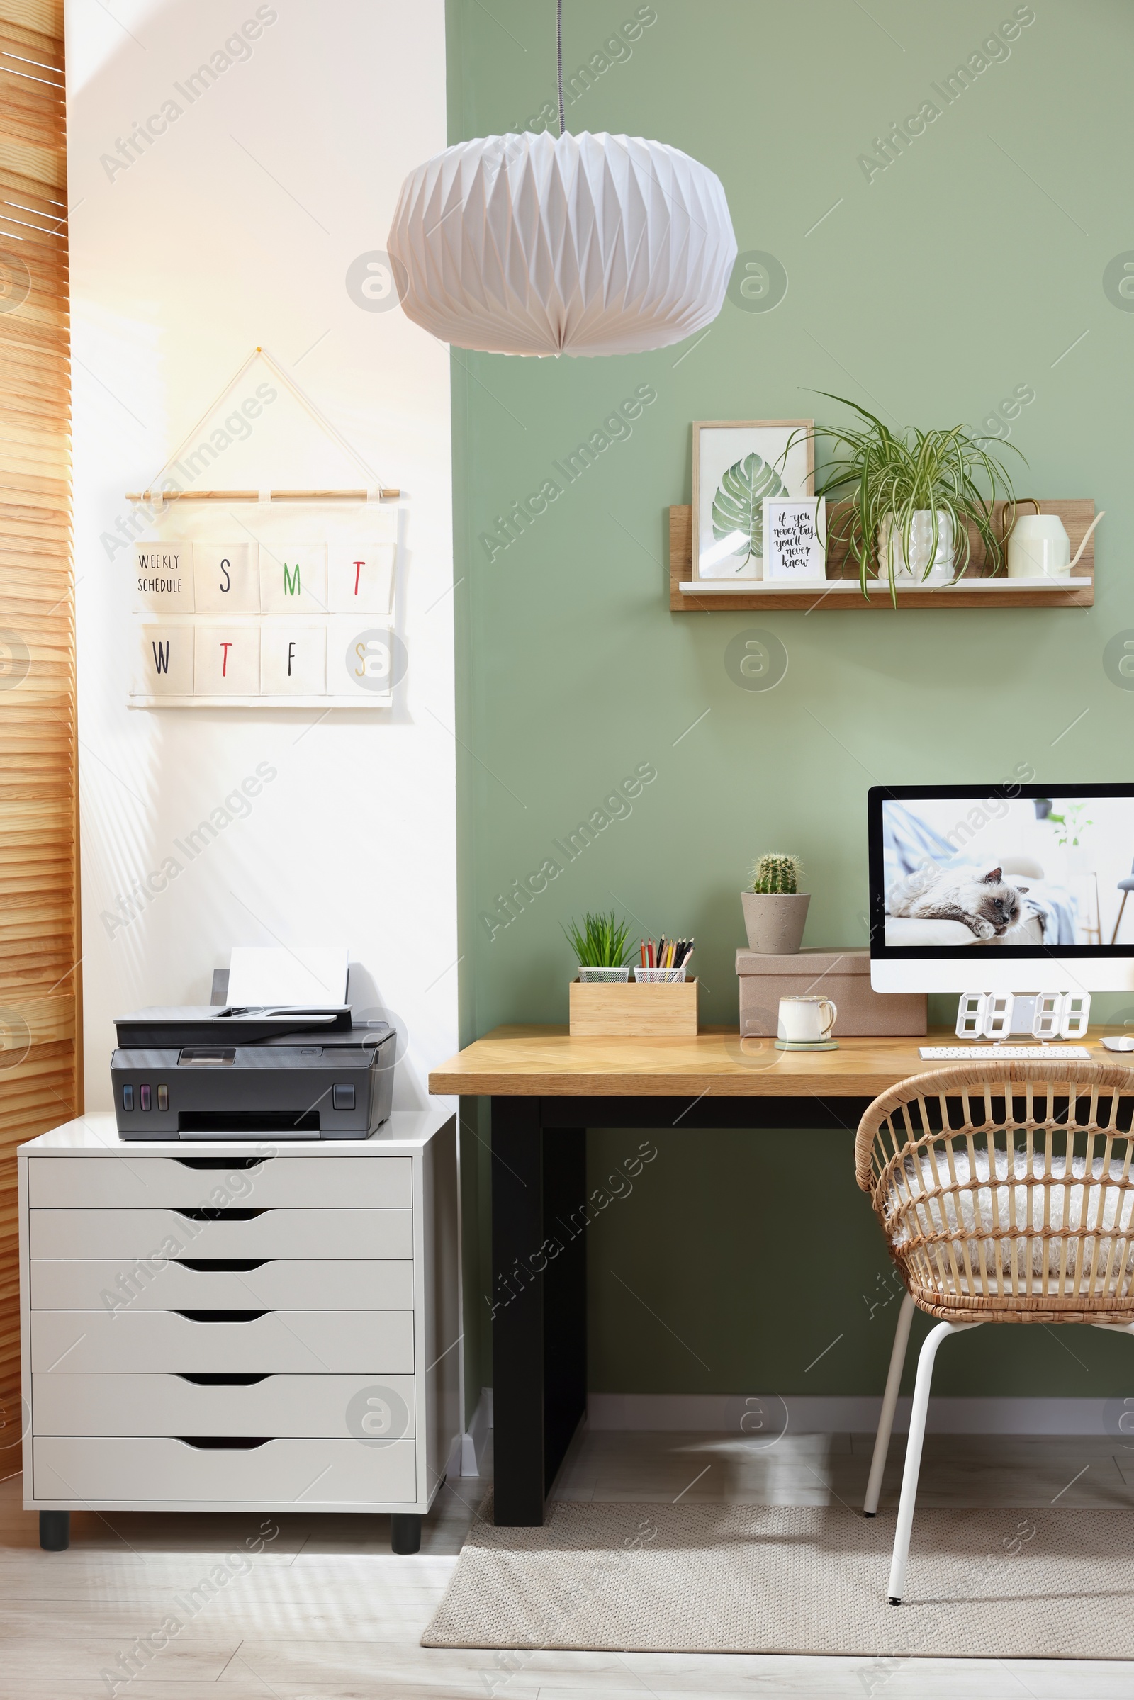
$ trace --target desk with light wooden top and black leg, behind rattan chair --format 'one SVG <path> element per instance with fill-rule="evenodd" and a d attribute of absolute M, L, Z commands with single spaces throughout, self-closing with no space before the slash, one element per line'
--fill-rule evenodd
<path fill-rule="evenodd" d="M 942 1030 L 787 1052 L 736 1028 L 571 1039 L 498 1027 L 430 1074 L 430 1091 L 491 1098 L 496 1523 L 542 1523 L 587 1409 L 587 1129 L 843 1127 L 852 1163 L 870 1100 L 942 1066 L 921 1061 L 923 1044 L 957 1040 Z"/>

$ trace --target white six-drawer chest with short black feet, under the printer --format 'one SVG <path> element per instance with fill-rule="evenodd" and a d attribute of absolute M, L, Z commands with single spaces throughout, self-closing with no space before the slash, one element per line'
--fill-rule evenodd
<path fill-rule="evenodd" d="M 456 1436 L 456 1122 L 367 1141 L 19 1148 L 24 1506 L 391 1513 L 413 1552 Z"/>

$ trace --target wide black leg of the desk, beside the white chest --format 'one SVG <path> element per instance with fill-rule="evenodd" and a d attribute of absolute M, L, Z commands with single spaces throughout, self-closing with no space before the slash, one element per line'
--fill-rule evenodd
<path fill-rule="evenodd" d="M 495 1520 L 536 1528 L 587 1408 L 585 1132 L 493 1098 L 491 1144 Z"/>

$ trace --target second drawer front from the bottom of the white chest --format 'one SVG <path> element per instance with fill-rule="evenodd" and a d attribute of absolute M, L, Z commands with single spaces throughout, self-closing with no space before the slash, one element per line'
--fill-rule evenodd
<path fill-rule="evenodd" d="M 32 1375 L 36 1435 L 413 1438 L 411 1375 L 265 1375 L 201 1387 L 182 1375 Z"/>

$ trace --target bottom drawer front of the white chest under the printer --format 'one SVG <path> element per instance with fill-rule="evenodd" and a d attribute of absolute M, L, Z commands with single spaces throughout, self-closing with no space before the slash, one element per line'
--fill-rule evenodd
<path fill-rule="evenodd" d="M 417 1443 L 367 1447 L 357 1440 L 269 1440 L 218 1450 L 182 1440 L 37 1436 L 32 1494 L 80 1510 L 90 1503 L 189 1501 L 194 1508 L 413 1504 Z"/>

